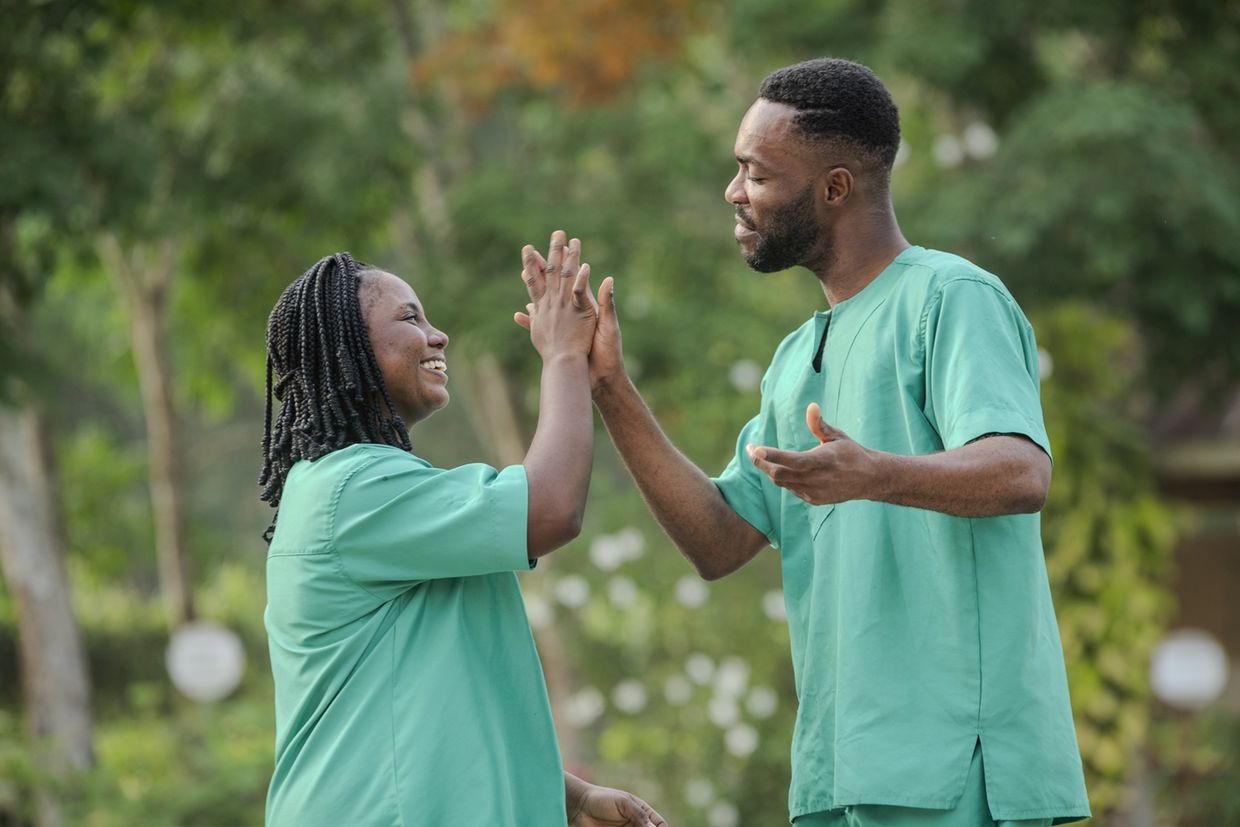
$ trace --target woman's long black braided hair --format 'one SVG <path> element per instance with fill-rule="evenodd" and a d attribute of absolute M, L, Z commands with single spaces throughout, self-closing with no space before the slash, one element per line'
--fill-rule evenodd
<path fill-rule="evenodd" d="M 362 319 L 362 279 L 378 272 L 348 253 L 321 258 L 284 289 L 267 320 L 267 413 L 258 484 L 262 500 L 277 510 L 263 532 L 268 543 L 284 481 L 298 460 L 316 460 L 357 443 L 412 450 Z M 274 427 L 273 396 L 280 403 Z"/>

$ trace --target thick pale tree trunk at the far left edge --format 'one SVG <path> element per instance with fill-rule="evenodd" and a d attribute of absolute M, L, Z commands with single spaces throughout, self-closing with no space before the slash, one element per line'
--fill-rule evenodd
<path fill-rule="evenodd" d="M 17 606 L 26 722 L 40 765 L 64 779 L 94 763 L 91 682 L 57 529 L 51 445 L 32 409 L 0 407 L 0 568 Z M 37 798 L 42 827 L 63 822 Z"/>

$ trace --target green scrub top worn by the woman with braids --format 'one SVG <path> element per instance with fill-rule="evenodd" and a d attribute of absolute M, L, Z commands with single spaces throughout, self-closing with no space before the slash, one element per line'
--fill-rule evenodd
<path fill-rule="evenodd" d="M 525 469 L 386 445 L 293 466 L 267 559 L 272 827 L 564 825 L 515 572 Z"/>

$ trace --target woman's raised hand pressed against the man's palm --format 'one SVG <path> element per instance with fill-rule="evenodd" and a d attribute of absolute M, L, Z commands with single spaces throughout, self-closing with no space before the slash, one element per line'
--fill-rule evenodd
<path fill-rule="evenodd" d="M 590 293 L 590 265 L 579 264 L 582 242 L 565 242 L 563 231 L 551 236 L 543 259 L 532 245 L 521 250 L 521 278 L 529 293 L 527 312 L 516 314 L 518 325 L 543 360 L 562 353 L 588 353 L 598 326 L 598 305 Z"/>

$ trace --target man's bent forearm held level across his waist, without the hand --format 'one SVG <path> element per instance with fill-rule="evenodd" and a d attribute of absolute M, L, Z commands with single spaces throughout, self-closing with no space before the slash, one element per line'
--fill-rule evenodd
<path fill-rule="evenodd" d="M 987 436 L 920 456 L 875 451 L 875 462 L 873 498 L 957 517 L 1040 511 L 1050 485 L 1049 458 L 1022 436 Z"/>

